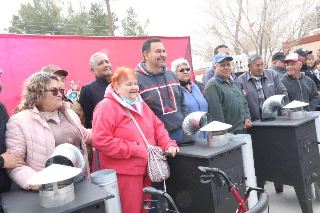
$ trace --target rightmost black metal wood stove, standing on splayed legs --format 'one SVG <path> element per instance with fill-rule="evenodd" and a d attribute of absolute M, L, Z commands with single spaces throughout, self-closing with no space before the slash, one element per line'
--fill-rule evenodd
<path fill-rule="evenodd" d="M 310 185 L 319 179 L 320 156 L 315 118 L 253 122 L 251 134 L 257 187 L 265 181 L 294 187 L 302 212 L 312 213 Z"/>

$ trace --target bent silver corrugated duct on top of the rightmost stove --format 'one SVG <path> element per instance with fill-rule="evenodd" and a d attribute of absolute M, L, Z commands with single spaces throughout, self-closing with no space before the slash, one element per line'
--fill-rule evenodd
<path fill-rule="evenodd" d="M 262 106 L 262 118 L 277 117 L 278 109 L 289 104 L 288 96 L 286 95 L 273 95 L 269 97 Z"/>

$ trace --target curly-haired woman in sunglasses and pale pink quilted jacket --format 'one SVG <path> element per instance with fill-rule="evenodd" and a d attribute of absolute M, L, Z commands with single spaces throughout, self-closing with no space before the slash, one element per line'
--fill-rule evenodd
<path fill-rule="evenodd" d="M 27 166 L 8 171 L 14 182 L 24 189 L 38 190 L 40 185 L 28 185 L 27 179 L 45 168 L 50 153 L 63 143 L 76 146 L 84 156 L 87 175 L 90 169 L 86 144 L 90 144 L 91 129 L 85 129 L 68 103 L 62 102 L 64 85 L 51 73 L 35 73 L 25 82 L 22 100 L 6 126 L 5 141 L 11 154 L 24 157 Z"/>

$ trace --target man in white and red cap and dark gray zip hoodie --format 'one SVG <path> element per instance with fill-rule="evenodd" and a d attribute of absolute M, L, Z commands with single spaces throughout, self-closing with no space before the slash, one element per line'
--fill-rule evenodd
<path fill-rule="evenodd" d="M 285 58 L 287 73 L 281 78 L 287 88 L 289 100 L 298 100 L 309 103 L 307 111 L 315 111 L 318 106 L 319 95 L 316 84 L 304 72 L 300 72 L 302 59 L 297 53 L 291 53 Z"/>

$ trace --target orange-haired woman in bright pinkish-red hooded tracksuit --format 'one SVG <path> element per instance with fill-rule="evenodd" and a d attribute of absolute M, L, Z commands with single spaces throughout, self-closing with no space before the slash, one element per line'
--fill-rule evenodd
<path fill-rule="evenodd" d="M 128 108 L 150 145 L 160 146 L 174 157 L 179 148 L 164 124 L 139 95 L 138 78 L 132 69 L 119 67 L 112 76 L 92 119 L 92 143 L 99 150 L 101 169 L 115 169 L 123 213 L 148 212 L 142 201 L 150 199 L 142 188 L 151 186 L 147 176 L 148 151 Z"/>

